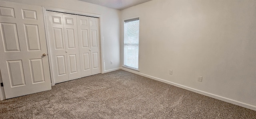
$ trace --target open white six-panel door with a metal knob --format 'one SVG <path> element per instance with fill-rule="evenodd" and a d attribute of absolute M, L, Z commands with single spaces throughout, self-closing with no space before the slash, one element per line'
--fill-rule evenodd
<path fill-rule="evenodd" d="M 7 99 L 51 90 L 41 6 L 0 1 L 0 56 Z"/>

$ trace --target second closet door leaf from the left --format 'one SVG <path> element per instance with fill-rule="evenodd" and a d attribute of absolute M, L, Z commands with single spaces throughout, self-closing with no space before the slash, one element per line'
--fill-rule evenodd
<path fill-rule="evenodd" d="M 81 78 L 76 15 L 63 14 L 68 79 Z"/>

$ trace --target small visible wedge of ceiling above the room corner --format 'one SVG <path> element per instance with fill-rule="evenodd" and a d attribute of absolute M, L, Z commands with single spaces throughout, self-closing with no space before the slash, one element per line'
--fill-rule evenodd
<path fill-rule="evenodd" d="M 138 4 L 142 4 L 144 2 L 148 2 L 151 0 L 79 0 L 79 1 L 98 4 L 100 6 L 114 8 L 117 10 L 123 10 L 125 8 L 136 6 Z"/>

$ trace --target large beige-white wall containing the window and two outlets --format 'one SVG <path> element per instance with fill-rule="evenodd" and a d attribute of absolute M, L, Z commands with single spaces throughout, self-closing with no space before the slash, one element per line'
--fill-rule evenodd
<path fill-rule="evenodd" d="M 120 21 L 133 16 L 140 74 L 256 109 L 255 0 L 152 0 L 122 10 Z"/>

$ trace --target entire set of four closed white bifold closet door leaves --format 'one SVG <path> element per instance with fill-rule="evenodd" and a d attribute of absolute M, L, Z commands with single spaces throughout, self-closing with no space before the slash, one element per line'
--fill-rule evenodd
<path fill-rule="evenodd" d="M 101 73 L 99 19 L 46 14 L 54 83 Z"/>

